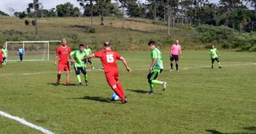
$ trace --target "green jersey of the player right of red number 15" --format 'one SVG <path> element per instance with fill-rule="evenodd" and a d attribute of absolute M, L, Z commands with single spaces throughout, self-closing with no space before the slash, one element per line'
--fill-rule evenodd
<path fill-rule="evenodd" d="M 160 50 L 158 50 L 158 48 L 154 48 L 153 50 L 151 50 L 151 58 L 152 60 L 158 58 L 153 69 L 163 69 L 163 60 L 161 58 L 161 52 Z"/>

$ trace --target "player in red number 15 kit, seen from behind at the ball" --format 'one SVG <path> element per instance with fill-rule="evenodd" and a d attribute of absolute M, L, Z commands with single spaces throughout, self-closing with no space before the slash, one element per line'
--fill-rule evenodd
<path fill-rule="evenodd" d="M 106 80 L 108 84 L 111 86 L 112 90 L 122 99 L 121 104 L 127 103 L 127 99 L 125 98 L 125 92 L 123 92 L 123 88 L 119 82 L 118 78 L 118 68 L 116 64 L 116 59 L 123 61 L 123 65 L 125 65 L 128 72 L 131 72 L 131 69 L 128 67 L 125 58 L 120 56 L 117 52 L 112 51 L 111 45 L 109 42 L 104 42 L 104 50 L 100 50 L 95 54 L 90 54 L 83 59 L 88 58 L 100 58 L 102 65 L 104 67 Z"/>

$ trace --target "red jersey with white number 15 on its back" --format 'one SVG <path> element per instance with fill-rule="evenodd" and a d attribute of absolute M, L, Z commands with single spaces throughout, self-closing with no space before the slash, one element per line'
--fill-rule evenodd
<path fill-rule="evenodd" d="M 117 52 L 114 52 L 112 50 L 100 50 L 93 55 L 96 58 L 100 58 L 105 73 L 108 73 L 110 71 L 118 71 L 116 59 L 120 59 L 121 56 Z"/>

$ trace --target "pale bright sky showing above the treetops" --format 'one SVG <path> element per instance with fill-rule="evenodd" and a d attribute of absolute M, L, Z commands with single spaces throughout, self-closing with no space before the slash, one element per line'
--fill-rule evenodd
<path fill-rule="evenodd" d="M 28 3 L 32 3 L 33 0 L 0 0 L 0 10 L 11 14 L 9 8 L 14 8 L 14 12 L 22 12 L 25 11 L 28 7 Z M 144 1 L 144 0 L 142 0 Z M 56 5 L 63 4 L 66 2 L 70 2 L 74 5 L 74 7 L 79 7 L 79 3 L 77 0 L 39 0 L 39 3 L 43 4 L 45 9 L 55 8 Z M 210 0 L 211 3 L 218 3 L 219 0 Z"/>

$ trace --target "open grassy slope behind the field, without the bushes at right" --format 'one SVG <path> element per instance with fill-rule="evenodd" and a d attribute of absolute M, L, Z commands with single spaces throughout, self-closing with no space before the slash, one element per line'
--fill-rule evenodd
<path fill-rule="evenodd" d="M 153 23 L 152 20 L 127 18 L 125 28 L 121 29 L 121 18 L 106 17 L 104 26 L 100 18 L 93 18 L 96 33 L 90 33 L 90 18 L 39 18 L 39 40 L 60 40 L 66 38 L 72 48 L 75 44 L 89 42 L 95 49 L 104 41 L 112 42 L 114 50 L 147 50 L 146 43 L 154 39 L 161 49 L 179 39 L 184 49 L 205 48 L 202 42 L 196 41 L 198 32 L 194 27 L 171 27 L 171 37 L 167 36 L 167 25 L 164 22 Z M 33 18 L 25 18 L 32 22 Z M 5 41 L 35 41 L 34 27 L 26 26 L 24 20 L 12 17 L 0 17 L 0 43 Z M 100 46 L 98 46 L 100 45 Z M 54 50 L 54 47 L 51 47 Z"/>

